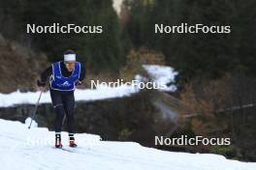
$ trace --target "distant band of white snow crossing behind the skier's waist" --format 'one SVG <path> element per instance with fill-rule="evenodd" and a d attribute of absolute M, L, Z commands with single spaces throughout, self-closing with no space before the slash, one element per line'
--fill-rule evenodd
<path fill-rule="evenodd" d="M 171 67 L 157 66 L 157 65 L 144 65 L 145 71 L 151 76 L 153 82 L 165 85 L 175 82 L 177 74 Z M 87 80 L 88 81 L 88 80 Z M 160 89 L 162 91 L 176 91 L 176 86 L 166 86 Z M 83 89 L 75 91 L 75 99 L 78 100 L 96 100 L 96 99 L 112 99 L 131 96 L 138 93 L 140 89 L 136 85 L 120 85 L 118 87 L 109 87 L 104 85 L 97 86 L 97 89 Z M 40 92 L 20 93 L 16 91 L 11 94 L 0 94 L 0 107 L 9 107 L 15 104 L 35 104 L 39 98 Z M 41 103 L 50 103 L 49 93 L 46 92 L 42 95 Z"/>

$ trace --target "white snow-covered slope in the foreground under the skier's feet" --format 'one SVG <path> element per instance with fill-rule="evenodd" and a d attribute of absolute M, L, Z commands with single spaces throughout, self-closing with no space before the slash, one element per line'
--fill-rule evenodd
<path fill-rule="evenodd" d="M 255 170 L 224 156 L 185 154 L 142 147 L 134 142 L 101 141 L 98 135 L 77 134 L 79 148 L 53 148 L 54 132 L 19 122 L 0 120 L 0 164 L 5 170 Z"/>

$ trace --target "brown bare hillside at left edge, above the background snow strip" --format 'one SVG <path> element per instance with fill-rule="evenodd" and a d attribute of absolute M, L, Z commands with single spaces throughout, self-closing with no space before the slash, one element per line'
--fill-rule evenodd
<path fill-rule="evenodd" d="M 32 90 L 40 71 L 47 66 L 46 55 L 4 39 L 0 34 L 0 93 Z"/>

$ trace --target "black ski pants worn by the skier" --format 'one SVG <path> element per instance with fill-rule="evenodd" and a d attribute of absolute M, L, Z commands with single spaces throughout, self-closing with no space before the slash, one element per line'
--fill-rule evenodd
<path fill-rule="evenodd" d="M 74 91 L 50 90 L 50 98 L 56 113 L 55 132 L 60 132 L 66 114 L 69 133 L 74 133 L 75 98 Z"/>

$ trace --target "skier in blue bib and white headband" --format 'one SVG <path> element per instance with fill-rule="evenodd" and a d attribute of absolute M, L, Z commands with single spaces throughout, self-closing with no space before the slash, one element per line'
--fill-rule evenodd
<path fill-rule="evenodd" d="M 73 50 L 66 50 L 63 57 L 63 61 L 53 63 L 41 74 L 41 80 L 38 80 L 41 90 L 45 90 L 49 81 L 50 98 L 56 112 L 54 125 L 56 148 L 62 148 L 61 128 L 65 114 L 70 139 L 69 146 L 77 147 L 74 137 L 74 91 L 76 86 L 81 85 L 85 76 L 85 67 L 80 62 L 76 62 L 76 53 Z"/>

